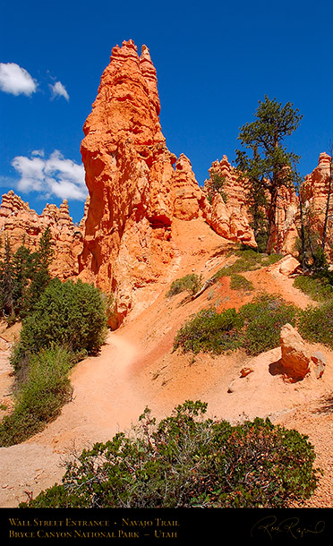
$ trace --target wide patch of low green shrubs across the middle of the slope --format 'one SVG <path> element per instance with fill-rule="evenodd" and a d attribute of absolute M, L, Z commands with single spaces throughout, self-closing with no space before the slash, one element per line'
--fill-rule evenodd
<path fill-rule="evenodd" d="M 264 294 L 252 303 L 218 313 L 199 311 L 175 337 L 174 348 L 194 354 L 220 354 L 243 347 L 248 354 L 260 354 L 279 345 L 279 333 L 286 323 L 295 325 L 296 309 L 279 296 Z"/>

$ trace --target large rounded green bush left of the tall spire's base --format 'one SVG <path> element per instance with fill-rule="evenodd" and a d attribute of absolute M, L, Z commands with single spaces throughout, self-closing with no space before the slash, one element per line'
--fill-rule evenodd
<path fill-rule="evenodd" d="M 106 333 L 105 304 L 95 286 L 81 280 L 62 283 L 55 278 L 22 324 L 12 356 L 15 371 L 21 369 L 27 355 L 53 343 L 69 347 L 73 353 L 96 353 Z"/>

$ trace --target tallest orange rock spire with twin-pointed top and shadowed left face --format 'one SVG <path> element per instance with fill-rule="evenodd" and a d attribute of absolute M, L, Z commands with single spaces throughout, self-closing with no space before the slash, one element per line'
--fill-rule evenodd
<path fill-rule="evenodd" d="M 165 274 L 174 216 L 201 215 L 203 193 L 190 161 L 166 148 L 159 110 L 148 48 L 115 47 L 81 143 L 90 205 L 80 275 L 115 293 L 119 320 L 134 290 Z"/>

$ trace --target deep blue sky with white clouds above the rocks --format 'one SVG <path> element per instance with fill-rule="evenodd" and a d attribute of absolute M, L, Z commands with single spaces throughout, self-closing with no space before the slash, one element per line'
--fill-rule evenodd
<path fill-rule="evenodd" d="M 0 0 L 0 10 L 0 192 L 13 189 L 38 213 L 67 198 L 81 219 L 82 126 L 124 39 L 149 47 L 166 145 L 191 159 L 199 183 L 213 161 L 235 159 L 239 128 L 265 94 L 303 115 L 286 140 L 302 175 L 329 151 L 330 1 Z"/>

